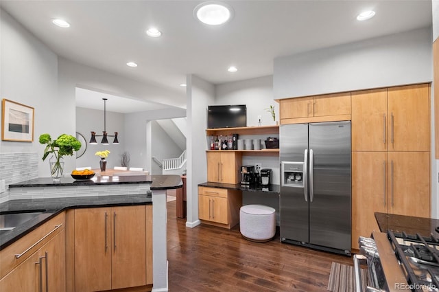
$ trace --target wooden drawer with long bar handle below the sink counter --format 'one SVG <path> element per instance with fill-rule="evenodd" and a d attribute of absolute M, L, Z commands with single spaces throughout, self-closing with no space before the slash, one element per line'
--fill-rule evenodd
<path fill-rule="evenodd" d="M 37 229 L 29 232 L 15 243 L 0 251 L 0 279 L 29 258 L 35 251 L 54 238 L 65 225 L 65 212 L 47 221 Z M 21 255 L 16 258 L 16 255 Z"/>

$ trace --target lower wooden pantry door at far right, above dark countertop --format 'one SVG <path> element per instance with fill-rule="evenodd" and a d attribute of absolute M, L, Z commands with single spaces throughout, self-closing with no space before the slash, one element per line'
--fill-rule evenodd
<path fill-rule="evenodd" d="M 389 152 L 389 213 L 429 217 L 429 153 Z"/>

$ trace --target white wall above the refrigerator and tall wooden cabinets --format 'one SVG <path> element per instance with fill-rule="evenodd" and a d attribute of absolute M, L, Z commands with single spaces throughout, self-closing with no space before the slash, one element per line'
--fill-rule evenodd
<path fill-rule="evenodd" d="M 431 27 L 274 59 L 274 98 L 432 80 Z"/>

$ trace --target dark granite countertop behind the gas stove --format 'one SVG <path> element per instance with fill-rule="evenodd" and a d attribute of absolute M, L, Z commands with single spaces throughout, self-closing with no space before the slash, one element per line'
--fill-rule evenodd
<path fill-rule="evenodd" d="M 436 228 L 439 227 L 439 219 L 385 214 L 375 212 L 375 218 L 381 232 L 392 230 L 396 233 L 405 232 L 406 234 L 420 234 L 421 236 L 429 237 L 434 234 L 439 238 L 439 233 Z"/>

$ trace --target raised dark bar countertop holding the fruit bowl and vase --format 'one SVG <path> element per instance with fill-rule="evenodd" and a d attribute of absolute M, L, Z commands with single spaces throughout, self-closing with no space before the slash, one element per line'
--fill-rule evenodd
<path fill-rule="evenodd" d="M 115 184 L 151 183 L 151 190 L 168 190 L 182 188 L 179 175 L 123 175 L 114 177 L 95 176 L 93 179 L 77 181 L 72 177 L 63 177 L 54 182 L 50 177 L 40 177 L 20 183 L 12 183 L 9 188 L 59 187 L 59 186 L 96 186 Z"/>

